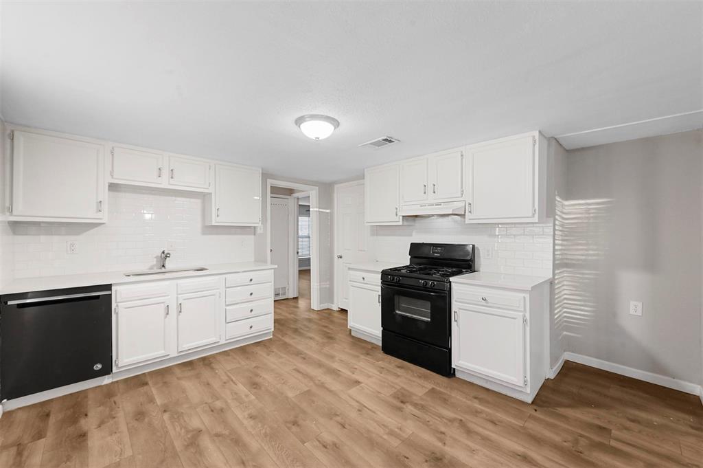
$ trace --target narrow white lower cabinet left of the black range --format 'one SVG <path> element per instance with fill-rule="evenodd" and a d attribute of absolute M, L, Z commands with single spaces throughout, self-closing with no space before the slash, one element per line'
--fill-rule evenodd
<path fill-rule="evenodd" d="M 381 281 L 378 272 L 349 269 L 347 321 L 352 335 L 381 343 Z"/>

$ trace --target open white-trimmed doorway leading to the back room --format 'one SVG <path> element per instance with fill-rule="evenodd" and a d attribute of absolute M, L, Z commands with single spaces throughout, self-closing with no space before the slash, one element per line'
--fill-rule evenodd
<path fill-rule="evenodd" d="M 318 188 L 269 179 L 266 192 L 267 260 L 278 265 L 274 296 L 320 310 Z"/>

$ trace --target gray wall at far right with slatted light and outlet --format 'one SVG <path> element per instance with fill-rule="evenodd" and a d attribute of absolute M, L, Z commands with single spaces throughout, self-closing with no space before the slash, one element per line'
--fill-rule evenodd
<path fill-rule="evenodd" d="M 703 381 L 702 144 L 695 131 L 569 151 L 555 260 L 567 350 Z"/>

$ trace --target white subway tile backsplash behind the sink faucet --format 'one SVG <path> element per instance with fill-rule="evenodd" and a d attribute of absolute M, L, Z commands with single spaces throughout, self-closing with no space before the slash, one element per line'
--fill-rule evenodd
<path fill-rule="evenodd" d="M 254 260 L 254 228 L 205 226 L 204 207 L 203 194 L 111 184 L 106 224 L 11 223 L 15 277 L 143 270 L 163 249 L 169 266 Z"/>

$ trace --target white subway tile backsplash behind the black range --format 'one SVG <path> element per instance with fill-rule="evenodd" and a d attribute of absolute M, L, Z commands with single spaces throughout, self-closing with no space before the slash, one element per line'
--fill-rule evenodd
<path fill-rule="evenodd" d="M 463 216 L 417 217 L 412 224 L 375 226 L 371 249 L 381 262 L 408 263 L 411 242 L 475 244 L 477 270 L 507 274 L 552 276 L 552 223 L 466 224 Z M 486 259 L 487 248 L 494 258 Z"/>

